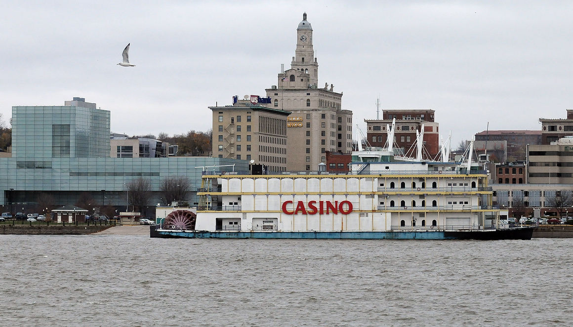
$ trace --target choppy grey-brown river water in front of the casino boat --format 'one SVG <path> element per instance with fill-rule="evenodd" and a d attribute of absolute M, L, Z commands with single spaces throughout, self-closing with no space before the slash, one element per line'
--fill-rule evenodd
<path fill-rule="evenodd" d="M 573 239 L 0 235 L 3 326 L 570 326 Z"/>

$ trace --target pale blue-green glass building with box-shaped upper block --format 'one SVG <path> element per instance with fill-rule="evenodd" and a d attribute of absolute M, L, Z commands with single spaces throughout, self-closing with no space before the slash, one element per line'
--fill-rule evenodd
<path fill-rule="evenodd" d="M 189 179 L 191 192 L 181 200 L 195 203 L 206 167 L 249 168 L 248 161 L 218 157 L 109 157 L 110 112 L 81 98 L 65 104 L 12 108 L 13 156 L 0 157 L 2 212 L 38 212 L 42 195 L 49 195 L 54 206 L 89 198 L 87 210 L 121 208 L 131 203 L 126 185 L 139 178 L 150 182 L 149 206 L 154 206 L 163 202 L 160 186 L 171 176 Z M 213 167 L 223 165 L 230 166 Z"/>

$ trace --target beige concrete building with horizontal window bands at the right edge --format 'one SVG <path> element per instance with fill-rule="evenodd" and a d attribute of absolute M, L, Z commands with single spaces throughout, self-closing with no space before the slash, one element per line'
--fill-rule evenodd
<path fill-rule="evenodd" d="M 573 184 L 573 137 L 528 148 L 528 183 Z"/>

